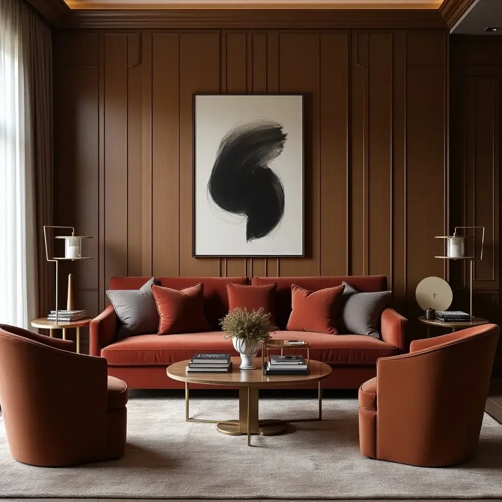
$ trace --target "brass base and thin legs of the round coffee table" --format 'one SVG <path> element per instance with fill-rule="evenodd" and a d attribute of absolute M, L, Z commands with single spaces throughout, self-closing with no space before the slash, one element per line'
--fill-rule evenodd
<path fill-rule="evenodd" d="M 262 436 L 276 436 L 284 434 L 288 427 L 288 422 L 313 422 L 322 420 L 322 389 L 319 382 L 318 394 L 318 418 L 305 418 L 293 420 L 258 420 L 258 387 L 239 387 L 239 419 L 238 420 L 202 420 L 190 418 L 189 402 L 190 391 L 188 382 L 185 382 L 185 420 L 187 422 L 202 422 L 216 424 L 216 429 L 221 434 L 229 436 L 247 435 L 247 444 L 251 446 L 251 436 L 260 434 Z"/>

